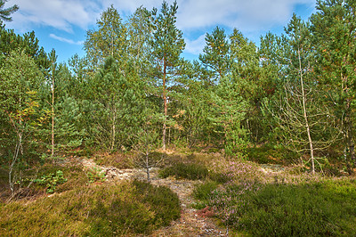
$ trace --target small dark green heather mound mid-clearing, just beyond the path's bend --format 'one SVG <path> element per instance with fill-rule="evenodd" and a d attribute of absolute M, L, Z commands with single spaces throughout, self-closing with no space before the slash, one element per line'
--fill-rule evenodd
<path fill-rule="evenodd" d="M 208 175 L 206 167 L 194 163 L 177 163 L 172 167 L 163 168 L 159 171 L 159 176 L 166 178 L 175 176 L 176 178 L 185 178 L 190 180 L 203 179 Z"/>

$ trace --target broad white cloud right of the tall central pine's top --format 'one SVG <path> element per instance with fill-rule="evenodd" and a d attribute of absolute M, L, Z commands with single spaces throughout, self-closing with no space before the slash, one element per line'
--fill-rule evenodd
<path fill-rule="evenodd" d="M 315 0 L 180 0 L 177 25 L 183 30 L 223 25 L 255 31 L 285 24 L 296 4 L 313 7 Z"/>

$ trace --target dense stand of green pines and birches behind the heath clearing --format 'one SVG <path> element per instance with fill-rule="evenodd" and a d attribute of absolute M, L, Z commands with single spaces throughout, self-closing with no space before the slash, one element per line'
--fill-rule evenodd
<path fill-rule="evenodd" d="M 98 153 L 138 154 L 147 170 L 158 161 L 151 154 L 184 148 L 260 163 L 273 155 L 311 176 L 355 171 L 353 0 L 318 0 L 308 20 L 294 14 L 284 34 L 259 45 L 216 27 L 197 61 L 182 57 L 176 3 L 125 19 L 111 5 L 86 32 L 85 56 L 66 63 L 35 32 L 6 29 L 3 6 L 0 162 L 9 192 L 28 169 Z"/>

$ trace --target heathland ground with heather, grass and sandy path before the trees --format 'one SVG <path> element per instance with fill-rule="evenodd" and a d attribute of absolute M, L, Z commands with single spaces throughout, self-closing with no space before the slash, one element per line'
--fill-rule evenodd
<path fill-rule="evenodd" d="M 220 152 L 181 149 L 159 151 L 151 157 L 160 162 L 150 169 L 148 183 L 146 169 L 135 167 L 134 157 L 130 152 L 117 152 L 48 160 L 36 175 L 33 170 L 22 174 L 23 183 L 21 187 L 17 184 L 14 196 L 2 176 L 0 234 L 356 233 L 356 177 L 347 173 L 324 170 L 325 175 L 312 175 L 310 167 L 297 159 L 283 165 L 271 156 L 247 161 L 226 158 Z M 266 159 L 274 161 L 263 164 Z M 127 166 L 129 163 L 133 166 Z M 1 172 L 4 174 L 4 169 Z M 31 178 L 35 182 L 27 186 Z M 168 189 L 157 192 L 155 187 Z"/>

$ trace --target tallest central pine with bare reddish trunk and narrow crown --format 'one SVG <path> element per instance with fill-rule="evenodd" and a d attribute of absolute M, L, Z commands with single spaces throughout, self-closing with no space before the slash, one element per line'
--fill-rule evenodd
<path fill-rule="evenodd" d="M 168 6 L 163 2 L 160 13 L 154 8 L 150 12 L 150 23 L 152 27 L 152 47 L 153 61 L 157 67 L 156 77 L 162 83 L 162 97 L 164 103 L 165 120 L 163 122 L 162 146 L 166 149 L 166 119 L 167 109 L 167 84 L 170 79 L 176 76 L 177 67 L 180 65 L 180 55 L 185 47 L 182 31 L 175 26 L 178 5 L 176 2 Z"/>

